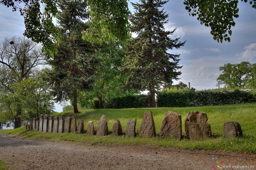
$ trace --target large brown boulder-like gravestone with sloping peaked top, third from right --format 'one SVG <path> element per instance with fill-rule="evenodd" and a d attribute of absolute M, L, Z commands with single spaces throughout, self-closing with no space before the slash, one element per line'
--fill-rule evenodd
<path fill-rule="evenodd" d="M 160 137 L 182 138 L 181 115 L 168 111 L 163 117 L 163 124 L 160 130 Z"/>

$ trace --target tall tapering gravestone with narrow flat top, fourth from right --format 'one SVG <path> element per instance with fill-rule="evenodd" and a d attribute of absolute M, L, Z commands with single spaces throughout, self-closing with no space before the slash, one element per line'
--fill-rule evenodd
<path fill-rule="evenodd" d="M 139 135 L 142 137 L 156 136 L 156 128 L 152 112 L 145 112 L 139 130 Z"/>

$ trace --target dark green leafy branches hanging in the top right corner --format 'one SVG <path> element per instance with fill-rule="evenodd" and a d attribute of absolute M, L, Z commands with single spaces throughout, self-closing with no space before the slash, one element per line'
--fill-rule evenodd
<path fill-rule="evenodd" d="M 250 1 L 250 4 L 253 1 L 252 7 L 256 9 L 255 0 Z M 197 20 L 201 24 L 211 27 L 210 33 L 213 35 L 213 39 L 222 43 L 223 39 L 230 42 L 231 27 L 236 24 L 233 17 L 239 17 L 238 2 L 238 0 L 185 0 L 184 4 L 189 15 L 198 16 Z M 226 36 L 227 33 L 229 36 Z"/>

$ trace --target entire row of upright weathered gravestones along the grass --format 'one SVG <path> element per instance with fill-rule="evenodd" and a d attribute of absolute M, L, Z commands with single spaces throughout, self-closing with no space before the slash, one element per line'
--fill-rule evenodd
<path fill-rule="evenodd" d="M 209 138 L 212 135 L 211 126 L 207 123 L 208 117 L 204 112 L 188 112 L 185 118 L 185 136 L 190 140 L 200 140 L 203 138 Z M 134 137 L 136 119 L 129 119 L 125 136 Z M 78 127 L 76 124 L 76 119 L 71 117 L 63 116 L 48 116 L 39 115 L 39 121 L 34 118 L 33 122 L 26 125 L 26 130 L 38 130 L 40 132 L 53 132 L 53 133 L 83 133 L 84 131 L 84 120 L 80 119 L 78 122 Z M 99 120 L 97 131 L 95 133 L 94 125 L 92 121 L 87 123 L 87 134 L 96 136 L 108 135 L 108 123 L 105 115 Z M 117 119 L 113 125 L 113 135 L 122 135 L 122 127 L 120 121 Z M 153 137 L 156 136 L 155 124 L 152 112 L 145 112 L 142 124 L 139 130 L 139 136 L 142 137 Z M 223 136 L 224 137 L 237 137 L 242 136 L 242 129 L 238 122 L 227 121 L 223 126 Z M 163 118 L 163 124 L 160 130 L 160 137 L 169 137 L 182 139 L 181 130 L 181 115 L 176 112 L 168 111 Z"/>

